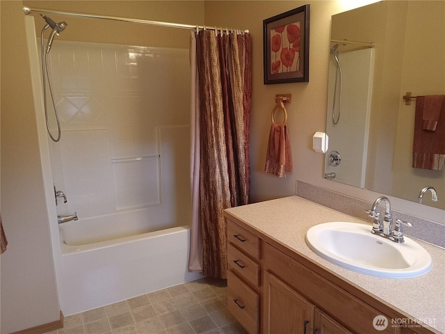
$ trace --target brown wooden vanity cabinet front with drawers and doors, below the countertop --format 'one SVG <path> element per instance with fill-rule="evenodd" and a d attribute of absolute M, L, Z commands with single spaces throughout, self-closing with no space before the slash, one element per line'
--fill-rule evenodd
<path fill-rule="evenodd" d="M 396 319 L 404 315 L 250 225 L 229 216 L 226 220 L 227 303 L 248 333 L 435 333 L 420 326 L 391 324 L 377 331 L 373 327 L 376 316 Z"/>

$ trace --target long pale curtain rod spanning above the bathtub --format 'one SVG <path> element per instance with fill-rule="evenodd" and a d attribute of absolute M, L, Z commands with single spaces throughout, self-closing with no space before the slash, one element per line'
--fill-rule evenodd
<path fill-rule="evenodd" d="M 25 15 L 29 15 L 31 13 L 44 13 L 44 14 L 56 14 L 56 15 L 64 15 L 64 16 L 71 16 L 71 17 L 83 17 L 88 19 L 108 19 L 111 21 L 120 21 L 120 22 L 129 22 L 129 23 L 136 23 L 136 24 L 147 24 L 151 26 L 165 26 L 168 28 L 178 28 L 178 29 L 196 29 L 196 30 L 221 30 L 221 31 L 243 31 L 244 33 L 248 33 L 248 30 L 241 30 L 241 29 L 223 29 L 218 28 L 216 26 L 198 26 L 197 24 L 195 26 L 191 24 L 179 24 L 179 23 L 168 23 L 168 22 L 157 22 L 157 21 L 149 21 L 147 19 L 131 19 L 129 17 L 118 17 L 118 16 L 108 16 L 108 15 L 98 15 L 98 14 L 87 14 L 87 13 L 75 13 L 75 12 L 61 12 L 58 10 L 51 10 L 51 9 L 44 9 L 44 8 L 30 8 L 27 6 L 23 7 L 23 11 Z"/>

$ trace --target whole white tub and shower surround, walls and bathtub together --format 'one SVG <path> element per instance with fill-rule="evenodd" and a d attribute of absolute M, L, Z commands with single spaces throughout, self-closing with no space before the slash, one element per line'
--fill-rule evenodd
<path fill-rule="evenodd" d="M 72 315 L 200 278 L 187 268 L 188 49 L 57 40 L 49 70 L 62 134 L 54 143 L 33 17 L 26 25 L 60 310 Z M 56 206 L 53 183 L 67 203 Z M 79 221 L 57 224 L 57 214 L 73 212 Z"/>

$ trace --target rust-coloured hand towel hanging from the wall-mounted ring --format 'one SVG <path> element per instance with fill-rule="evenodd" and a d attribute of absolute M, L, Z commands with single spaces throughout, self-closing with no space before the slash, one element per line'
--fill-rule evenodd
<path fill-rule="evenodd" d="M 270 125 L 264 171 L 277 177 L 286 177 L 286 173 L 292 172 L 291 141 L 283 123 Z"/>

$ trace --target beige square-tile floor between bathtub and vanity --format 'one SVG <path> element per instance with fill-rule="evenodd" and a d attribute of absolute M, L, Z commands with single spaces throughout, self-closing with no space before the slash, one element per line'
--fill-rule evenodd
<path fill-rule="evenodd" d="M 202 278 L 65 317 L 47 334 L 245 334 L 227 310 L 227 281 Z"/>

